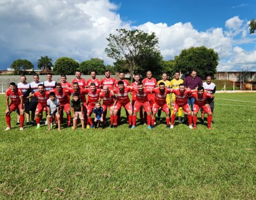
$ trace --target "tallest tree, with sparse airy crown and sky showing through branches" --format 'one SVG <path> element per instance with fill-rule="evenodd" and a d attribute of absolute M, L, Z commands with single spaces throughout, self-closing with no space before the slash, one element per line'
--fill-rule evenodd
<path fill-rule="evenodd" d="M 141 30 L 117 29 L 118 34 L 110 34 L 107 38 L 109 44 L 105 48 L 107 56 L 114 58 L 118 64 L 122 63 L 123 68 L 128 70 L 131 75 L 131 81 L 134 72 L 147 62 L 147 68 L 153 68 L 155 54 L 159 54 L 158 38 L 155 33 L 145 33 Z M 155 66 L 156 67 L 156 66 Z"/>

